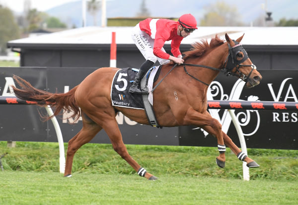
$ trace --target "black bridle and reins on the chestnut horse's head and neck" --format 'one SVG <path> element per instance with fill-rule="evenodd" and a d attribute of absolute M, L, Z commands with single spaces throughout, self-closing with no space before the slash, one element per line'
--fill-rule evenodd
<path fill-rule="evenodd" d="M 225 67 L 223 69 L 219 69 L 219 68 L 213 68 L 213 67 L 209 67 L 209 66 L 204 66 L 204 65 L 197 65 L 197 64 L 180 64 L 183 66 L 184 71 L 191 77 L 193 77 L 194 79 L 202 82 L 205 85 L 208 85 L 207 83 L 199 80 L 198 78 L 194 77 L 193 75 L 191 75 L 185 68 L 185 66 L 194 66 L 194 67 L 202 67 L 202 68 L 209 68 L 209 69 L 213 69 L 213 70 L 217 70 L 217 71 L 221 71 L 224 72 L 224 74 L 228 75 L 233 75 L 233 76 L 237 76 L 240 79 L 242 79 L 244 82 L 247 82 L 249 76 L 251 75 L 252 71 L 254 69 L 256 69 L 255 65 L 242 65 L 241 63 L 243 63 L 244 61 L 246 61 L 248 59 L 247 53 L 245 51 L 245 49 L 242 47 L 242 44 L 239 44 L 237 41 L 233 40 L 233 42 L 235 43 L 235 45 L 233 47 L 230 46 L 229 43 L 227 43 L 228 46 L 228 55 L 224 61 L 224 65 Z M 243 53 L 243 58 L 238 61 L 236 56 L 239 52 Z M 251 70 L 249 72 L 248 75 L 243 74 L 239 68 L 241 67 L 251 67 Z M 236 68 L 236 70 L 234 72 L 232 72 L 232 69 Z"/>

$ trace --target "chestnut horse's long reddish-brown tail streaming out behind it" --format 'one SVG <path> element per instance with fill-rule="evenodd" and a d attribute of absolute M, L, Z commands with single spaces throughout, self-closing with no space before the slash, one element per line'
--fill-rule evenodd
<path fill-rule="evenodd" d="M 75 86 L 67 93 L 50 93 L 40 89 L 36 89 L 29 82 L 19 76 L 13 75 L 13 79 L 21 87 L 21 89 L 18 89 L 12 86 L 13 92 L 16 97 L 22 100 L 34 101 L 37 103 L 37 105 L 40 106 L 50 105 L 51 107 L 55 108 L 53 116 L 42 116 L 45 120 L 49 120 L 58 115 L 62 109 L 64 109 L 65 111 L 74 112 L 71 117 L 75 117 L 75 121 L 79 118 L 80 109 L 75 103 L 74 99 L 74 92 L 77 86 Z"/>

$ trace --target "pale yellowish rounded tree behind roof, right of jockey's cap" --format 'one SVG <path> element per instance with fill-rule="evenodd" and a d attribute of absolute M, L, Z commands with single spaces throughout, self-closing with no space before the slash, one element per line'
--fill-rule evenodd
<path fill-rule="evenodd" d="M 206 14 L 200 21 L 201 26 L 242 26 L 237 7 L 224 1 L 217 1 L 206 7 Z"/>

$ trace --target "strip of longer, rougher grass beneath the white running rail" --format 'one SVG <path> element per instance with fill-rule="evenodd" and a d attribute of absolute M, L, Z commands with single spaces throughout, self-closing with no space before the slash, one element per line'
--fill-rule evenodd
<path fill-rule="evenodd" d="M 17 142 L 16 148 L 0 142 L 5 170 L 59 172 L 59 148 L 54 142 Z M 65 143 L 67 147 L 67 143 Z M 66 149 L 66 148 L 65 148 Z M 225 168 L 215 163 L 217 147 L 127 145 L 131 156 L 149 173 L 192 177 L 242 179 L 242 162 L 226 151 Z M 250 179 L 298 180 L 298 150 L 248 149 L 248 156 L 260 164 L 250 169 Z M 111 144 L 85 144 L 74 155 L 73 173 L 136 175 Z"/>

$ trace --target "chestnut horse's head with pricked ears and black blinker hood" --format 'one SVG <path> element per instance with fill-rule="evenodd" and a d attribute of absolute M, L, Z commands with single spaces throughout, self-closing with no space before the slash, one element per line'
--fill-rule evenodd
<path fill-rule="evenodd" d="M 253 87 L 260 83 L 262 75 L 257 71 L 257 67 L 252 64 L 246 51 L 240 44 L 243 36 L 244 34 L 235 41 L 225 34 L 225 40 L 228 45 L 225 69 L 228 75 L 235 75 L 245 81 L 246 87 Z"/>

